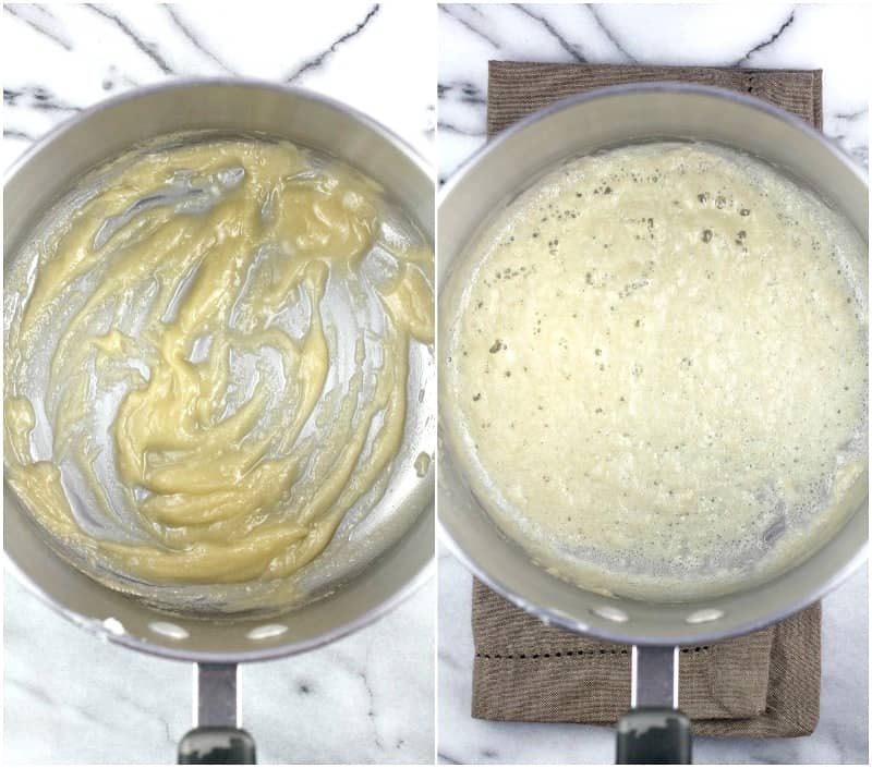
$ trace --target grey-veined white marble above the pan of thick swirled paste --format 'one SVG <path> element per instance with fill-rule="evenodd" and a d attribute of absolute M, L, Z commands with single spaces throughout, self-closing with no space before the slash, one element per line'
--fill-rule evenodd
<path fill-rule="evenodd" d="M 312 5 L 3 5 L 3 166 L 65 118 L 137 85 L 242 76 L 325 93 L 427 157 L 435 132 L 436 9 Z M 397 62 L 402 61 L 401 68 Z"/>

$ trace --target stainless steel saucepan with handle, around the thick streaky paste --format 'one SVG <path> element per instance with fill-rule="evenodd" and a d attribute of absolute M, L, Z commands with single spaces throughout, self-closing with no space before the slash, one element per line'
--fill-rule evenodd
<path fill-rule="evenodd" d="M 298 88 L 240 80 L 175 81 L 102 102 L 38 142 L 4 186 L 4 268 L 47 209 L 84 173 L 131 147 L 180 132 L 263 134 L 339 158 L 375 180 L 432 241 L 433 181 L 425 161 L 368 117 Z M 403 448 L 397 462 L 435 451 L 435 362 L 410 362 Z M 11 572 L 37 597 L 100 637 L 168 659 L 195 662 L 195 730 L 180 761 L 254 761 L 240 728 L 237 665 L 316 648 L 383 615 L 429 577 L 434 552 L 434 479 L 423 467 L 391 475 L 373 513 L 408 522 L 383 551 L 341 585 L 293 610 L 268 617 L 167 614 L 72 568 L 44 539 L 4 483 L 4 548 Z"/>

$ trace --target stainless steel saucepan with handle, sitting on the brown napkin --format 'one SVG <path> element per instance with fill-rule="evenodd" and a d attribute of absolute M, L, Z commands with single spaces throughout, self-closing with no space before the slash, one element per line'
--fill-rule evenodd
<path fill-rule="evenodd" d="M 706 141 L 772 163 L 840 211 L 868 243 L 869 194 L 861 171 L 798 118 L 744 94 L 706 86 L 602 88 L 522 120 L 446 184 L 437 229 L 439 338 L 448 338 L 457 320 L 446 285 L 482 222 L 545 169 L 598 149 L 652 139 Z M 440 354 L 440 367 L 445 364 Z M 543 621 L 632 645 L 631 709 L 618 722 L 619 763 L 690 761 L 690 723 L 677 700 L 679 646 L 777 622 L 820 599 L 865 558 L 869 486 L 863 472 L 845 497 L 838 524 L 789 570 L 767 581 L 687 602 L 586 590 L 534 563 L 500 532 L 464 476 L 446 426 L 440 422 L 437 493 L 441 532 L 451 551 L 482 582 Z"/>

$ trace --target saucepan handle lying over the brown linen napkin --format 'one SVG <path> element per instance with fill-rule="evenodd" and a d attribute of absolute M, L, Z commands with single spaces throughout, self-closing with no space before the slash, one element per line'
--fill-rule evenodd
<path fill-rule="evenodd" d="M 678 648 L 634 645 L 631 669 L 617 764 L 690 764 L 690 719 L 678 710 Z"/>

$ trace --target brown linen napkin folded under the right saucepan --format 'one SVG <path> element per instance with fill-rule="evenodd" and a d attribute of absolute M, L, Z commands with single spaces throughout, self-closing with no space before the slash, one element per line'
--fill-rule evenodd
<path fill-rule="evenodd" d="M 487 134 L 565 96 L 616 83 L 686 81 L 752 94 L 820 130 L 821 71 L 492 61 Z M 630 651 L 542 624 L 473 585 L 472 716 L 613 723 L 630 705 Z M 693 732 L 801 736 L 818 724 L 821 606 L 743 637 L 682 648 L 679 702 Z"/>

